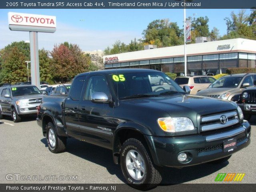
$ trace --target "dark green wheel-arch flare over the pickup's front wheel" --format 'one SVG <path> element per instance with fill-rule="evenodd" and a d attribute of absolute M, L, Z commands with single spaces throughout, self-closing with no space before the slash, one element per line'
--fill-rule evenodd
<path fill-rule="evenodd" d="M 153 136 L 152 133 L 148 128 L 141 124 L 136 124 L 134 122 L 124 122 L 122 124 L 119 124 L 114 132 L 113 136 L 113 158 L 114 158 L 114 163 L 118 164 L 119 162 L 119 142 L 118 142 L 118 132 L 124 129 L 129 129 L 129 130 L 134 130 L 136 132 L 139 132 L 144 136 L 144 139 L 146 140 L 147 147 L 150 151 L 152 160 L 154 164 L 160 165 L 158 157 L 156 155 L 156 147 L 154 144 Z"/>

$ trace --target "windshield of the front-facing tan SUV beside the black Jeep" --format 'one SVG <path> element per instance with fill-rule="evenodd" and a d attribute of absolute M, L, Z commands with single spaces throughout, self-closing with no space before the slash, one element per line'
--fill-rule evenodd
<path fill-rule="evenodd" d="M 215 82 L 213 82 L 208 88 L 236 88 L 242 77 L 222 77 Z"/>

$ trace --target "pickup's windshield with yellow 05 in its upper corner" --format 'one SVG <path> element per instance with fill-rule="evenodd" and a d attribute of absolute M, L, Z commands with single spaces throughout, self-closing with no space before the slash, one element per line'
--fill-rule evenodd
<path fill-rule="evenodd" d="M 176 82 L 162 72 L 127 72 L 110 76 L 120 99 L 185 94 Z"/>

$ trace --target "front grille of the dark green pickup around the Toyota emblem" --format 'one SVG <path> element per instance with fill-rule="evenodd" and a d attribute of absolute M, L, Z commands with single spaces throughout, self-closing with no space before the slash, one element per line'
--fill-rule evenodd
<path fill-rule="evenodd" d="M 226 123 L 221 122 L 220 118 L 226 116 Z M 235 125 L 239 122 L 236 111 L 223 112 L 219 114 L 213 114 L 208 116 L 202 116 L 200 121 L 200 130 L 202 132 L 215 130 L 220 128 L 226 128 Z"/>

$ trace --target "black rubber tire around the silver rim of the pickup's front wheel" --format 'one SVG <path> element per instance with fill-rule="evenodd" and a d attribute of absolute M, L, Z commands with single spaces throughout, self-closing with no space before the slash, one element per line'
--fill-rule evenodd
<path fill-rule="evenodd" d="M 128 152 L 131 152 L 131 151 L 137 152 L 136 160 L 138 158 L 138 153 L 139 153 L 140 157 L 142 157 L 144 162 L 144 173 L 140 172 L 140 175 L 143 175 L 143 177 L 140 180 L 134 179 L 133 176 L 129 173 L 128 168 L 126 166 L 126 158 L 128 158 L 128 156 L 126 155 L 128 154 Z M 134 154 L 136 154 L 136 152 Z M 134 162 L 131 162 L 130 164 Z M 140 161 L 140 163 L 141 162 L 142 161 Z M 140 142 L 137 139 L 130 138 L 124 142 L 120 151 L 120 164 L 121 164 L 122 172 L 124 174 L 124 177 L 127 183 L 133 188 L 140 189 L 140 190 L 149 190 L 151 188 L 158 186 L 158 184 L 160 184 L 162 181 L 162 176 L 158 171 L 158 168 L 152 162 L 148 154 L 148 151 L 146 150 L 142 142 Z M 140 171 L 141 166 L 138 166 L 138 167 Z M 131 171 L 134 171 L 134 170 L 130 170 L 130 172 Z M 135 172 L 136 170 L 134 171 L 134 174 Z"/>

